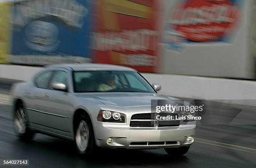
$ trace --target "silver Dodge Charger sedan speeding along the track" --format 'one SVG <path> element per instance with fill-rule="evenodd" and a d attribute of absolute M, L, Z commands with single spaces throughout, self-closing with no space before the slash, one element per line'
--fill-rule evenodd
<path fill-rule="evenodd" d="M 156 124 L 151 100 L 172 99 L 157 93 L 160 89 L 123 66 L 48 66 L 13 85 L 14 129 L 23 139 L 43 133 L 73 140 L 84 155 L 95 147 L 164 148 L 184 155 L 194 142 L 195 121 Z"/>

